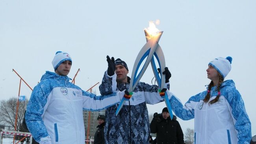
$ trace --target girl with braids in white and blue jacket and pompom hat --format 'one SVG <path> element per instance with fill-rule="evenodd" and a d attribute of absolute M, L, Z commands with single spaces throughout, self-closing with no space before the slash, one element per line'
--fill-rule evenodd
<path fill-rule="evenodd" d="M 243 99 L 232 80 L 224 81 L 232 58 L 215 58 L 206 70 L 206 91 L 189 98 L 185 106 L 167 90 L 176 116 L 195 119 L 195 144 L 249 144 L 251 124 Z"/>

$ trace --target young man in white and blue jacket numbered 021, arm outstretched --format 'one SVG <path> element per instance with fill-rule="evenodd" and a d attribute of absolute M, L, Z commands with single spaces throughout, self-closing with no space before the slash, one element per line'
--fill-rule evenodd
<path fill-rule="evenodd" d="M 124 92 L 96 96 L 69 82 L 72 59 L 56 52 L 54 72 L 46 71 L 33 89 L 26 124 L 40 144 L 84 144 L 83 110 L 102 110 L 121 101 Z"/>

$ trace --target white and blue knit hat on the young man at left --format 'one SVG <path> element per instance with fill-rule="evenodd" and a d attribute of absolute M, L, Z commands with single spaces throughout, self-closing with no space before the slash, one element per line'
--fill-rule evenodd
<path fill-rule="evenodd" d="M 56 55 L 52 60 L 52 65 L 54 70 L 56 70 L 63 61 L 67 61 L 67 60 L 72 62 L 72 59 L 67 52 L 61 52 L 61 51 L 56 52 Z"/>

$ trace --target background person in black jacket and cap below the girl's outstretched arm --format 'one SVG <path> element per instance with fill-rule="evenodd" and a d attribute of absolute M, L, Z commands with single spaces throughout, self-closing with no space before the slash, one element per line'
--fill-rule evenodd
<path fill-rule="evenodd" d="M 162 113 L 154 113 L 150 123 L 150 132 L 156 133 L 157 144 L 184 144 L 184 135 L 176 116 L 171 120 L 167 107 Z"/>

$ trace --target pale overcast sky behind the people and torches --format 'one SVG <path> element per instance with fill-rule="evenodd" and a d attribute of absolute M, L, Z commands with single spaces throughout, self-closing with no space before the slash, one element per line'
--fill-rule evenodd
<path fill-rule="evenodd" d="M 216 57 L 231 56 L 233 79 L 242 95 L 256 135 L 256 1 L 255 0 L 0 0 L 0 100 L 17 97 L 18 74 L 32 88 L 46 70 L 53 71 L 56 51 L 72 57 L 69 77 L 78 68 L 76 85 L 89 89 L 102 80 L 106 56 L 126 61 L 130 73 L 146 43 L 143 29 L 160 20 L 159 41 L 172 77 L 170 90 L 183 103 L 206 90 L 206 68 Z M 150 83 L 151 66 L 141 81 Z M 95 87 L 99 95 L 98 86 Z M 31 90 L 22 83 L 20 95 Z M 165 103 L 148 105 L 161 113 Z M 183 131 L 194 121 L 180 122 Z"/>

